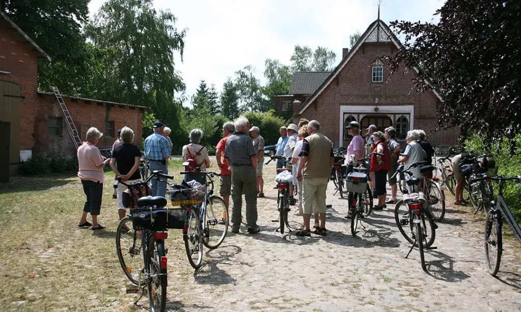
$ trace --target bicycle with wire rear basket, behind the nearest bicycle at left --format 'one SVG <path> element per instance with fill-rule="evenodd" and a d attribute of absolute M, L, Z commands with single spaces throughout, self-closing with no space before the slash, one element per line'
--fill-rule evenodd
<path fill-rule="evenodd" d="M 183 163 L 185 165 L 185 163 Z M 186 209 L 186 221 L 183 228 L 184 248 L 188 261 L 194 269 L 199 269 L 203 262 L 203 245 L 216 249 L 225 240 L 228 233 L 228 206 L 214 194 L 214 176 L 217 172 L 201 171 L 199 168 L 180 174 L 204 174 L 206 179 L 202 188 L 170 188 L 172 205 Z M 173 190 L 172 190 L 173 189 Z M 214 239 L 212 239 L 215 237 Z"/>

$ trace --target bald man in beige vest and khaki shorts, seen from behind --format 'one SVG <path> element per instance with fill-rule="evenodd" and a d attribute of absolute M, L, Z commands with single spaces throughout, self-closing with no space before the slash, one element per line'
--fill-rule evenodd
<path fill-rule="evenodd" d="M 309 134 L 303 140 L 302 150 L 299 154 L 300 163 L 297 169 L 297 180 L 302 180 L 304 229 L 297 231 L 297 236 L 311 236 L 309 220 L 313 213 L 313 201 L 316 201 L 316 212 L 320 216 L 320 226 L 314 233 L 326 236 L 326 190 L 334 163 L 333 145 L 331 141 L 321 134 L 320 124 L 312 120 L 307 125 Z"/>

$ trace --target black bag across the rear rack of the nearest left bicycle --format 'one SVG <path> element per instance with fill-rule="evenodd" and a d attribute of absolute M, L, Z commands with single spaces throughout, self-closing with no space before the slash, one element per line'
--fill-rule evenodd
<path fill-rule="evenodd" d="M 134 230 L 164 231 L 166 229 L 182 229 L 184 216 L 166 209 L 137 210 L 132 214 Z"/>

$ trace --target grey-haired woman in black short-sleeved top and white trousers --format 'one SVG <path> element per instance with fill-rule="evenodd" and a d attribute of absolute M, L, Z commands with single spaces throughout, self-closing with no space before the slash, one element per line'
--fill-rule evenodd
<path fill-rule="evenodd" d="M 121 129 L 122 144 L 114 148 L 112 158 L 110 159 L 110 168 L 116 174 L 116 177 L 121 177 L 121 180 L 126 184 L 131 184 L 141 180 L 139 174 L 139 162 L 141 159 L 141 151 L 139 146 L 132 144 L 134 142 L 134 132 L 129 127 Z M 117 191 L 118 199 L 118 215 L 119 219 L 125 217 L 127 209 L 123 206 L 123 192 L 127 187 L 119 184 Z"/>

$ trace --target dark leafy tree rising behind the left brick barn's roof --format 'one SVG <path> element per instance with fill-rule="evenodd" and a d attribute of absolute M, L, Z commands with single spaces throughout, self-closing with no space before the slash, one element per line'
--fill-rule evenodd
<path fill-rule="evenodd" d="M 51 58 L 38 63 L 39 88 L 51 85 L 69 95 L 82 93 L 85 79 L 85 37 L 81 24 L 88 20 L 84 0 L 0 0 L 5 14 Z"/>

